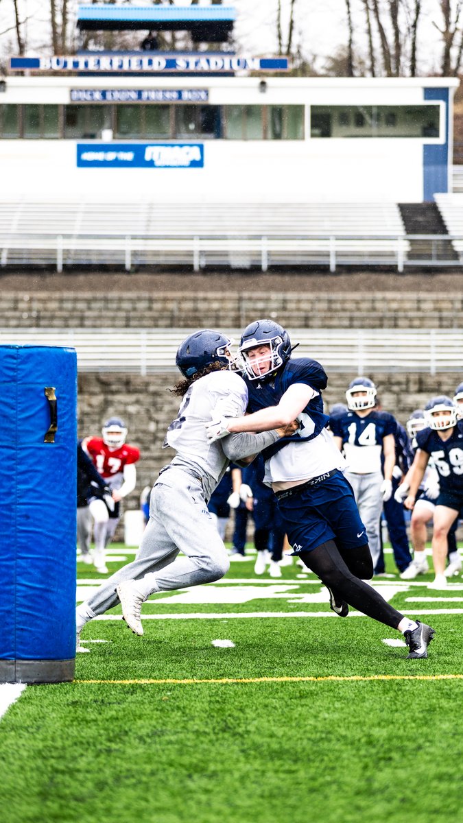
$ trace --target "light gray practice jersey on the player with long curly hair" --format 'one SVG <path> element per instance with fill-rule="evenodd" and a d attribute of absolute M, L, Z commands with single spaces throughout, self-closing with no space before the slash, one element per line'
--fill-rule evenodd
<path fill-rule="evenodd" d="M 167 430 L 164 448 L 171 446 L 176 451 L 170 465 L 200 477 L 206 499 L 222 480 L 231 460 L 260 452 L 278 439 L 274 431 L 268 431 L 261 435 L 229 435 L 215 443 L 208 442 L 205 423 L 223 414 L 241 416 L 246 412 L 247 402 L 247 386 L 239 374 L 227 370 L 205 374 L 191 384 Z"/>

